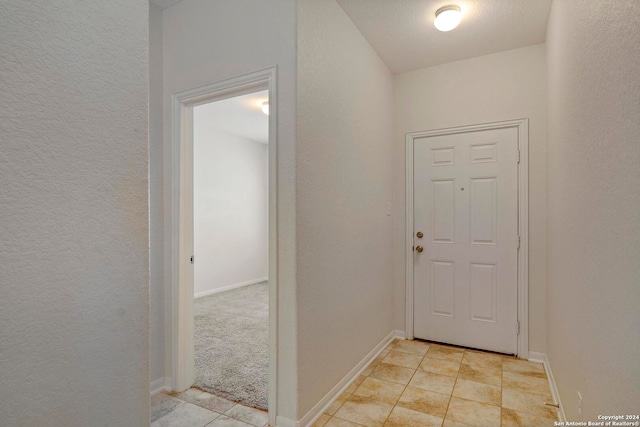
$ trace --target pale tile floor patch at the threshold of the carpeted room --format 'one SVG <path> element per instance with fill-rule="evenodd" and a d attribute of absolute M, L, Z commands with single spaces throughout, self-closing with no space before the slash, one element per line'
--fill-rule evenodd
<path fill-rule="evenodd" d="M 269 417 L 204 391 L 159 393 L 151 398 L 151 427 L 264 427 Z"/>

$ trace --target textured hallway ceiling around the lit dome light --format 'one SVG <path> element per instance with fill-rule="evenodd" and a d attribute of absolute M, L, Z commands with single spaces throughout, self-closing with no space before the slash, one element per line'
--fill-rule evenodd
<path fill-rule="evenodd" d="M 337 0 L 393 73 L 543 43 L 552 0 Z M 458 28 L 435 11 L 462 8 Z"/>

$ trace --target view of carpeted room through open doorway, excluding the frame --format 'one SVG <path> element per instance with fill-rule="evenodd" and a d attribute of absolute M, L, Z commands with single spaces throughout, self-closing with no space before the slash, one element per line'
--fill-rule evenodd
<path fill-rule="evenodd" d="M 267 90 L 193 109 L 194 384 L 267 410 Z"/>

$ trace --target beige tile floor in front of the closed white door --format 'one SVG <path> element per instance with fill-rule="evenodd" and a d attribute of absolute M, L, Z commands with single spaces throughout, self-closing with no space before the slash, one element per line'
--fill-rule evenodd
<path fill-rule="evenodd" d="M 553 426 L 541 363 L 396 340 L 314 427 Z"/>

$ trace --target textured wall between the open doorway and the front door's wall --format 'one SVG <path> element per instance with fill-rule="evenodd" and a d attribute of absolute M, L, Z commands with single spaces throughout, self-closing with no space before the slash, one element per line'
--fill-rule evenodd
<path fill-rule="evenodd" d="M 392 77 L 334 1 L 298 3 L 299 417 L 393 329 Z"/>

